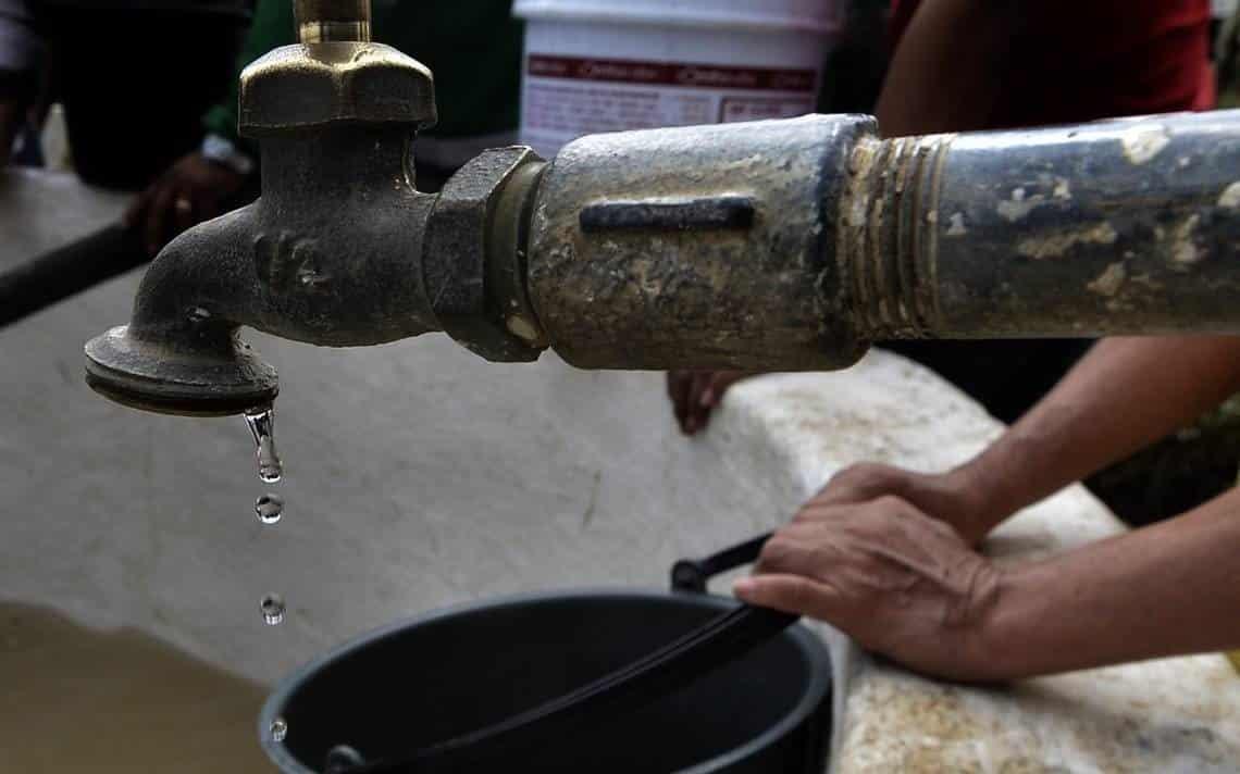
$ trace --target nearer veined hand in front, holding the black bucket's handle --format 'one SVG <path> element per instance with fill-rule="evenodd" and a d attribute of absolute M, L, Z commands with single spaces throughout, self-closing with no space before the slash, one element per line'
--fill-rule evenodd
<path fill-rule="evenodd" d="M 737 581 L 750 604 L 830 623 L 867 650 L 954 680 L 990 680 L 987 625 L 999 570 L 956 531 L 905 500 L 818 505 L 763 547 Z"/>

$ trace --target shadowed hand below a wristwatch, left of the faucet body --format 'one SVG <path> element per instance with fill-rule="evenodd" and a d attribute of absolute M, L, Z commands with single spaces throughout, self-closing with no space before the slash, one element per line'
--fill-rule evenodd
<path fill-rule="evenodd" d="M 125 224 L 141 232 L 146 251 L 155 255 L 185 229 L 223 211 L 223 202 L 241 191 L 246 176 L 195 151 L 169 167 L 125 213 Z"/>

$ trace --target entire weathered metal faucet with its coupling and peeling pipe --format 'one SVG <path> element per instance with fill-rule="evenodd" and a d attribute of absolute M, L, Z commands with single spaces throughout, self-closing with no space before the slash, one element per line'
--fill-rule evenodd
<path fill-rule="evenodd" d="M 491 360 L 844 368 L 872 341 L 1240 332 L 1240 111 L 880 140 L 868 116 L 515 146 L 418 192 L 430 72 L 367 0 L 299 0 L 242 74 L 263 193 L 169 244 L 87 380 L 236 414 L 242 326 L 350 347 L 446 331 Z"/>

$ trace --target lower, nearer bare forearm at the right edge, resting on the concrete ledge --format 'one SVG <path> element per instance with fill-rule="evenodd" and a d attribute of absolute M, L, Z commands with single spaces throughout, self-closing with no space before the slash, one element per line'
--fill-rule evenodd
<path fill-rule="evenodd" d="M 1240 492 L 1004 571 L 983 624 L 994 679 L 1240 646 Z"/>

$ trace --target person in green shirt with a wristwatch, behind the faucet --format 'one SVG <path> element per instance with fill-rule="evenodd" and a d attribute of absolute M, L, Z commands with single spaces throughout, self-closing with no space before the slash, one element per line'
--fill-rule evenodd
<path fill-rule="evenodd" d="M 374 41 L 415 57 L 435 76 L 439 123 L 414 144 L 419 189 L 438 189 L 482 150 L 516 140 L 523 27 L 511 2 L 374 0 L 372 12 Z M 268 51 L 296 42 L 295 30 L 290 0 L 258 0 L 227 93 L 203 108 L 195 125 L 193 150 L 187 146 L 126 215 L 151 255 L 255 187 L 257 146 L 237 134 L 238 78 Z"/>

